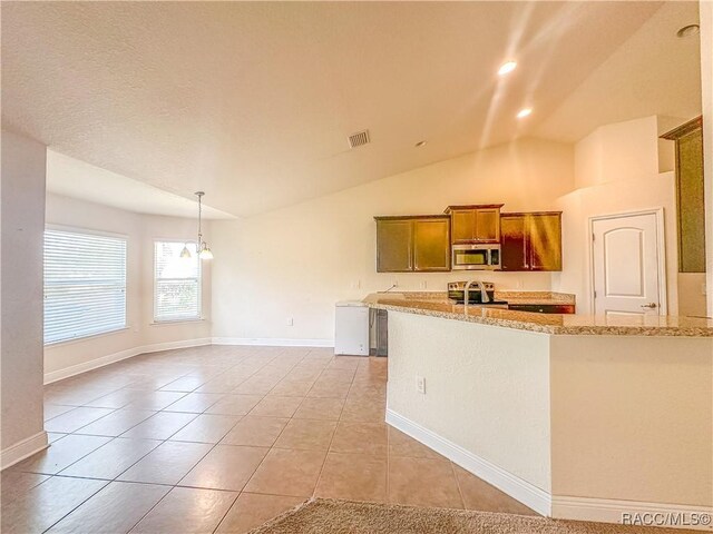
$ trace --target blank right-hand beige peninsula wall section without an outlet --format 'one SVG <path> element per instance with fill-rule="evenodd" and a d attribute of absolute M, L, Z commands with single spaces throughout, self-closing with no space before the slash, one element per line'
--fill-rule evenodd
<path fill-rule="evenodd" d="M 553 494 L 713 505 L 713 339 L 551 337 Z"/>

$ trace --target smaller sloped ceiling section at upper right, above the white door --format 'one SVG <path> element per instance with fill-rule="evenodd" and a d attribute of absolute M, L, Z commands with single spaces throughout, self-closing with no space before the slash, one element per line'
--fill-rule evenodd
<path fill-rule="evenodd" d="M 700 41 L 676 37 L 680 28 L 697 22 L 696 2 L 666 2 L 538 125 L 535 135 L 576 141 L 611 122 L 651 115 L 684 122 L 701 115 Z"/>

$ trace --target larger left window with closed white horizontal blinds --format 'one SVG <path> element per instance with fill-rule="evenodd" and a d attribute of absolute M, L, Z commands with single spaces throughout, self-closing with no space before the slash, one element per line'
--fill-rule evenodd
<path fill-rule="evenodd" d="M 45 344 L 126 328 L 126 239 L 45 230 Z"/>

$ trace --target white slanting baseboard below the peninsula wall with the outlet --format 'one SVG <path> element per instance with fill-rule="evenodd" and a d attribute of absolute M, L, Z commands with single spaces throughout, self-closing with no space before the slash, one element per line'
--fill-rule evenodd
<path fill-rule="evenodd" d="M 387 408 L 387 423 L 442 454 L 451 462 L 460 465 L 463 469 L 492 484 L 512 498 L 529 506 L 538 514 L 550 515 L 551 496 L 546 491 L 466 451 L 461 446 L 456 445 L 428 428 L 423 428 L 421 425 L 413 423 L 389 408 Z"/>

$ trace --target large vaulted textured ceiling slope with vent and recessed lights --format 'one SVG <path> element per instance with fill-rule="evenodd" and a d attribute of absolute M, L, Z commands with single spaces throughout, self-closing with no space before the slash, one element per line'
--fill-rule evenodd
<path fill-rule="evenodd" d="M 251 215 L 537 135 L 660 7 L 3 1 L 2 119 Z M 498 79 L 509 58 L 518 69 Z M 596 105 L 559 111 L 568 130 L 549 135 L 587 134 Z M 372 144 L 349 150 L 362 128 Z"/>

